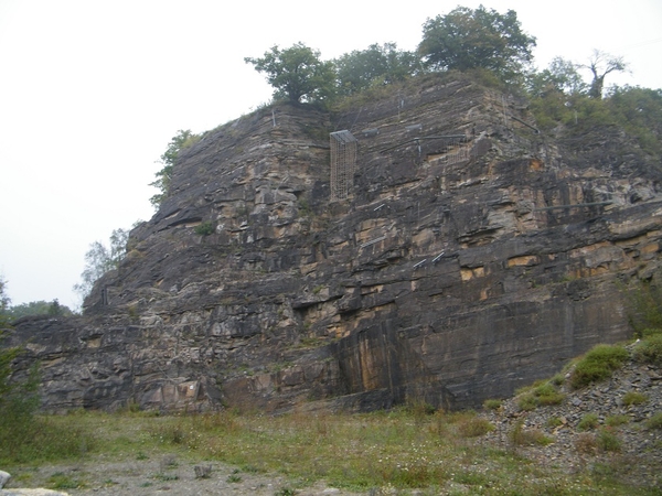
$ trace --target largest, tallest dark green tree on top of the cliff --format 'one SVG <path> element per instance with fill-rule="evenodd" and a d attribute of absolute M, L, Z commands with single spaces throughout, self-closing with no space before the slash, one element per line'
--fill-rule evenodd
<path fill-rule="evenodd" d="M 458 7 L 425 22 L 418 53 L 435 71 L 487 68 L 510 82 L 533 60 L 534 46 L 535 37 L 522 31 L 515 11 Z"/>

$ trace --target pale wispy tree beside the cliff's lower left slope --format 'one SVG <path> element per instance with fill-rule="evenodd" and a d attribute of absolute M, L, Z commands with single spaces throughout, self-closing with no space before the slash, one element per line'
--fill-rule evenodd
<path fill-rule="evenodd" d="M 127 251 L 129 231 L 115 229 L 110 235 L 110 245 L 107 247 L 100 241 L 94 241 L 85 254 L 85 269 L 81 273 L 82 282 L 74 284 L 74 291 L 84 301 L 92 292 L 94 283 L 106 272 L 117 269 Z"/>

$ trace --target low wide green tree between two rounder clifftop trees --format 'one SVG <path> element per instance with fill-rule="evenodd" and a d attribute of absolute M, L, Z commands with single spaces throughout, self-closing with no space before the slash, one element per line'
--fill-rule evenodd
<path fill-rule="evenodd" d="M 334 61 L 338 91 L 352 95 L 372 85 L 404 80 L 421 71 L 421 62 L 413 52 L 397 50 L 395 43 L 372 44 Z"/>

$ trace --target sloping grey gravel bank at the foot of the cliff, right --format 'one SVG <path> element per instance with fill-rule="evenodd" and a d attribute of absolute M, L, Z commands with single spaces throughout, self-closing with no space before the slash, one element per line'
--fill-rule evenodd
<path fill-rule="evenodd" d="M 567 382 L 567 381 L 566 381 Z M 601 471 L 634 486 L 660 488 L 662 494 L 662 429 L 649 429 L 647 420 L 662 412 L 662 370 L 659 366 L 629 362 L 609 380 L 576 391 L 562 387 L 566 395 L 560 405 L 520 411 L 517 398 L 484 417 L 495 430 L 480 442 L 516 449 L 541 465 L 555 465 L 567 473 Z M 623 398 L 637 392 L 645 398 L 639 405 L 624 405 Z M 580 429 L 587 416 L 597 416 L 592 429 Z M 618 416 L 623 423 L 608 425 Z M 547 445 L 513 445 L 511 433 L 521 423 L 527 432 L 538 432 L 552 440 Z M 612 434 L 619 446 L 601 449 L 602 431 Z"/>

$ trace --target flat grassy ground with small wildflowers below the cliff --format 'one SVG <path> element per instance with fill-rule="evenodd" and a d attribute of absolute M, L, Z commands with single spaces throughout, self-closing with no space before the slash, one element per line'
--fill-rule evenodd
<path fill-rule="evenodd" d="M 0 466 L 19 481 L 31 467 L 62 459 L 175 454 L 228 463 L 245 473 L 286 476 L 292 488 L 323 479 L 329 486 L 371 494 L 655 494 L 624 487 L 588 468 L 570 474 L 562 466 L 542 466 L 516 446 L 490 448 L 481 436 L 492 425 L 473 412 L 429 413 L 423 407 L 352 416 L 78 412 L 38 417 L 36 422 L 42 434 L 58 433 L 43 442 L 57 439 L 66 449 L 33 449 L 11 457 L 2 452 Z M 66 488 L 61 481 L 52 486 Z"/>

